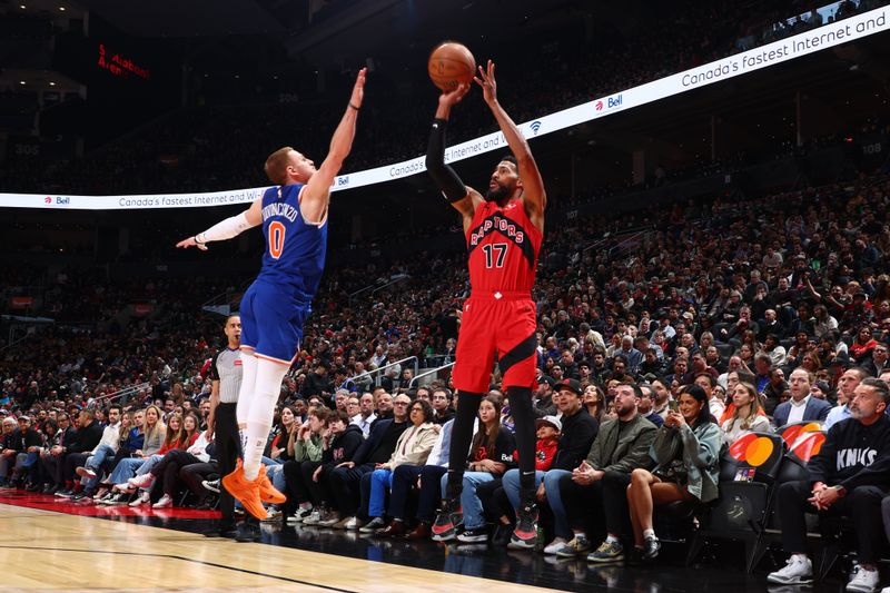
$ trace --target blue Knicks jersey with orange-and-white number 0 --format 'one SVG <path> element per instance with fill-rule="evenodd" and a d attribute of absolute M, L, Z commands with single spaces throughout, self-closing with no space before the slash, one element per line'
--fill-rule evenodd
<path fill-rule="evenodd" d="M 303 184 L 271 187 L 263 195 L 266 253 L 257 280 L 265 280 L 309 305 L 325 268 L 327 214 L 322 225 L 308 224 L 299 209 Z"/>

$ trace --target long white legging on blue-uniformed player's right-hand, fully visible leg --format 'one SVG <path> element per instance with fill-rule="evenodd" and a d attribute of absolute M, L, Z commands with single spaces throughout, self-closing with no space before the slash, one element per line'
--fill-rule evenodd
<path fill-rule="evenodd" d="M 288 368 L 288 365 L 280 363 L 257 360 L 254 395 L 247 415 L 247 445 L 244 449 L 244 475 L 247 480 L 256 480 L 259 474 L 263 451 L 266 448 L 275 415 L 275 404 L 281 393 L 281 379 Z"/>

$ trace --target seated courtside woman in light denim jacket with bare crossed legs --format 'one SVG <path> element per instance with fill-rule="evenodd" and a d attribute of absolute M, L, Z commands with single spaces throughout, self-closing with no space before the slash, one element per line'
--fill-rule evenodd
<path fill-rule="evenodd" d="M 681 387 L 679 411 L 668 413 L 650 449 L 657 467 L 634 470 L 627 486 L 634 545 L 643 560 L 655 559 L 661 550 L 652 527 L 655 506 L 716 498 L 722 442 L 705 391 L 699 385 Z"/>

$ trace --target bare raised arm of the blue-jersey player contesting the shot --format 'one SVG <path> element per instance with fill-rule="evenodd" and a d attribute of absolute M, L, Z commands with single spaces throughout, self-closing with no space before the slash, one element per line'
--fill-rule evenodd
<path fill-rule="evenodd" d="M 319 220 L 324 218 L 327 209 L 327 201 L 330 197 L 330 186 L 334 178 L 343 167 L 343 161 L 349 156 L 353 149 L 353 138 L 355 138 L 355 125 L 358 120 L 358 110 L 362 109 L 362 100 L 365 98 L 365 76 L 367 68 L 358 71 L 353 87 L 353 95 L 349 97 L 349 105 L 343 113 L 334 136 L 330 138 L 330 148 L 325 157 L 325 161 L 306 184 L 300 208 L 303 216 L 308 220 Z"/>

